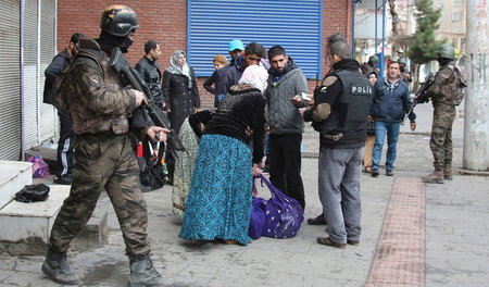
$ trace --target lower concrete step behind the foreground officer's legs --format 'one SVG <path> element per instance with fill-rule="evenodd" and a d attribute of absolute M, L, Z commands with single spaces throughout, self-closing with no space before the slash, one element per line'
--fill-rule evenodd
<path fill-rule="evenodd" d="M 0 253 L 12 255 L 43 254 L 54 220 L 70 195 L 70 186 L 50 185 L 46 201 L 11 201 L 0 210 Z M 96 209 L 87 226 L 74 240 L 77 249 L 102 245 L 106 239 L 106 210 Z"/>

